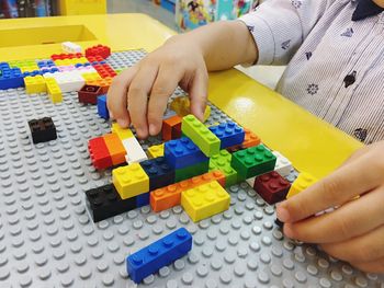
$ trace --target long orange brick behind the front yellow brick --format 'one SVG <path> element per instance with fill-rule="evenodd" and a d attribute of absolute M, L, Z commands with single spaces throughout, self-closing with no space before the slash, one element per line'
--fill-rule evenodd
<path fill-rule="evenodd" d="M 225 186 L 225 175 L 221 171 L 211 171 L 200 176 L 181 181 L 167 187 L 158 188 L 150 193 L 150 207 L 155 212 L 159 212 L 173 206 L 180 205 L 181 193 L 200 185 L 217 181 Z"/>

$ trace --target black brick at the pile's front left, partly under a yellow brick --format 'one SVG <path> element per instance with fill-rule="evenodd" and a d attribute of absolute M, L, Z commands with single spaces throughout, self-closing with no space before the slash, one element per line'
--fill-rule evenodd
<path fill-rule="evenodd" d="M 93 222 L 127 212 L 136 208 L 136 198 L 123 200 L 112 184 L 86 192 L 87 207 Z"/>

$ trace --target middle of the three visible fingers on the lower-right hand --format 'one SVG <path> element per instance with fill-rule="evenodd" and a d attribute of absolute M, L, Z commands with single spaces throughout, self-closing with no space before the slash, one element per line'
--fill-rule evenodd
<path fill-rule="evenodd" d="M 346 241 L 384 224 L 383 203 L 384 188 L 381 187 L 332 212 L 286 223 L 284 233 L 290 238 L 310 243 Z"/>

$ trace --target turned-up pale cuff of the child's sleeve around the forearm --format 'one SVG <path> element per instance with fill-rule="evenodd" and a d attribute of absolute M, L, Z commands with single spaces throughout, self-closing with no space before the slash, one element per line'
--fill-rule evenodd
<path fill-rule="evenodd" d="M 258 48 L 258 65 L 272 65 L 275 56 L 275 41 L 268 22 L 258 12 L 248 13 L 239 18 L 251 33 Z"/>

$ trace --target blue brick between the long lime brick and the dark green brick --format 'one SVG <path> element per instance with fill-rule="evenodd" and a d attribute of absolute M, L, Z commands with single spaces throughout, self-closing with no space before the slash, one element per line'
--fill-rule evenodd
<path fill-rule="evenodd" d="M 210 127 L 210 130 L 221 139 L 221 149 L 241 145 L 246 133 L 234 122 L 222 123 Z"/>

